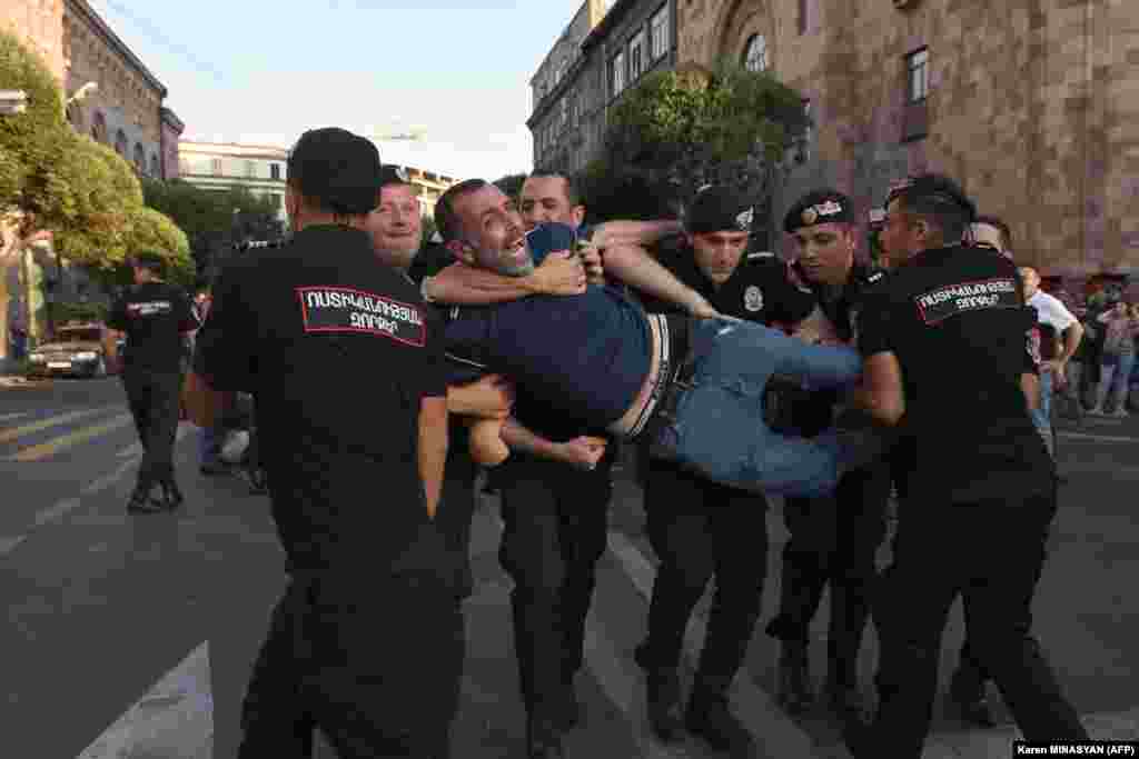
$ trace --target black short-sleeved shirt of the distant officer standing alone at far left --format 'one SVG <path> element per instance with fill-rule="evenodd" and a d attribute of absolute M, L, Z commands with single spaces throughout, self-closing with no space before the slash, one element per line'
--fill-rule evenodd
<path fill-rule="evenodd" d="M 107 327 L 126 333 L 125 365 L 154 372 L 180 370 L 182 333 L 198 325 L 190 298 L 167 282 L 129 288 L 107 316 Z"/>

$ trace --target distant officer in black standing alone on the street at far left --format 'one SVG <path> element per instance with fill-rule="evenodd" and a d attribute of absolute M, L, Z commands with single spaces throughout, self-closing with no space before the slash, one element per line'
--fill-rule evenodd
<path fill-rule="evenodd" d="M 103 338 L 112 363 L 123 333 L 130 346 L 122 380 L 144 451 L 126 505 L 132 514 L 177 509 L 183 500 L 174 479 L 174 439 L 186 340 L 199 322 L 186 292 L 163 281 L 163 266 L 158 253 L 134 256 L 134 286 L 112 306 Z"/>

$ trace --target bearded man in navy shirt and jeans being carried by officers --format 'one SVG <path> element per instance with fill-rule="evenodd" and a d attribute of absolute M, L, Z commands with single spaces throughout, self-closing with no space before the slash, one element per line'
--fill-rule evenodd
<path fill-rule="evenodd" d="M 533 271 L 522 218 L 489 182 L 451 188 L 436 216 L 448 247 L 468 266 L 490 277 Z M 773 373 L 819 389 L 847 386 L 858 365 L 849 348 L 802 345 L 726 320 L 632 246 L 607 250 L 605 266 L 707 319 L 646 316 L 618 290 L 591 286 L 577 296 L 466 310 L 448 325 L 449 349 L 501 371 L 567 420 L 628 439 L 644 435 L 655 455 L 743 489 L 821 495 L 843 471 L 880 454 L 871 430 L 803 440 L 776 436 L 763 423 L 761 396 Z"/>

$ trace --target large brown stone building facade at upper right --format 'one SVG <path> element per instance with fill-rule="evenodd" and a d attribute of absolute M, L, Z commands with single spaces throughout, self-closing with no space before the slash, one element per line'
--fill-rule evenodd
<path fill-rule="evenodd" d="M 690 0 L 682 63 L 769 65 L 814 119 L 777 213 L 831 183 L 862 211 L 941 171 L 1007 218 L 1019 261 L 1084 280 L 1139 266 L 1139 2 Z"/>

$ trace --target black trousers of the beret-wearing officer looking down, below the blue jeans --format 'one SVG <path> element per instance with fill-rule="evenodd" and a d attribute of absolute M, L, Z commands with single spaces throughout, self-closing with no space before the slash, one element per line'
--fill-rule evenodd
<path fill-rule="evenodd" d="M 688 618 L 715 576 L 697 686 L 727 691 L 747 653 L 768 570 L 768 504 L 663 462 L 648 464 L 646 529 L 661 560 L 648 612 L 647 662 L 680 663 Z"/>

